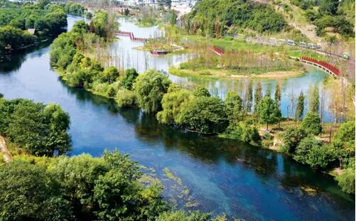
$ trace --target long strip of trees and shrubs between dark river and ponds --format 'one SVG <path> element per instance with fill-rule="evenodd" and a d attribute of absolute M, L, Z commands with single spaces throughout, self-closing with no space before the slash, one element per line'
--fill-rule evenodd
<path fill-rule="evenodd" d="M 97 16 L 102 16 L 103 19 L 98 19 Z M 54 41 L 50 53 L 51 61 L 68 85 L 83 87 L 97 95 L 116 99 L 120 107 L 139 107 L 145 112 L 156 114 L 158 122 L 186 131 L 220 134 L 219 136 L 224 138 L 266 147 L 274 143 L 274 137 L 281 137 L 279 151 L 290 154 L 296 161 L 315 169 L 344 169 L 344 173 L 338 176 L 339 184 L 347 193 L 355 192 L 355 188 L 345 187 L 345 183 L 355 186 L 355 176 L 347 173 L 352 170 L 352 163 L 355 162 L 355 149 L 335 143 L 337 139 L 342 140 L 342 144 L 344 141 L 350 142 L 352 136 L 338 138 L 341 136 L 338 134 L 343 134 L 345 126 L 340 126 L 333 141 L 328 144 L 322 144 L 315 139 L 323 129 L 318 114 L 320 104 L 316 102 L 319 100 L 318 93 L 311 95 L 314 97 L 315 102 L 312 103 L 315 107 L 309 108 L 300 126 L 294 124 L 293 129 L 286 128 L 283 133 L 273 134 L 269 125 L 289 120 L 281 117 L 279 85 L 276 87 L 274 99 L 271 90 L 267 90 L 263 95 L 261 84 L 257 84 L 254 94 L 252 85 L 249 85 L 244 97 L 239 97 L 236 92 L 229 92 L 222 101 L 212 97 L 204 87 L 189 90 L 175 85 L 166 75 L 156 70 L 148 70 L 138 75 L 134 69 L 120 73 L 114 67 L 103 68 L 95 59 L 85 57 L 82 51 L 88 47 L 84 40 L 87 36 L 95 41 L 110 41 L 108 36 L 111 35 L 108 33 L 112 32 L 112 29 L 106 29 L 108 26 L 103 25 L 107 23 L 106 19 L 106 14 L 99 13 L 95 15 L 90 26 L 83 21 L 77 22 L 72 31 L 63 33 Z M 298 104 L 296 123 L 302 119 L 302 100 Z M 342 121 L 345 119 L 352 117 L 344 116 Z M 266 131 L 261 131 L 262 124 L 266 125 Z M 352 127 L 350 122 L 345 125 Z M 355 127 L 355 124 L 353 126 Z M 345 182 L 345 179 L 351 182 Z"/>

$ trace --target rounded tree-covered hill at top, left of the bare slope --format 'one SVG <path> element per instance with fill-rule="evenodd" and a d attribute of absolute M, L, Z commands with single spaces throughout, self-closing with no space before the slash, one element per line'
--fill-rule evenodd
<path fill-rule="evenodd" d="M 183 26 L 188 33 L 219 37 L 244 28 L 259 33 L 275 33 L 286 28 L 286 21 L 266 4 L 244 0 L 203 0 L 183 17 Z"/>

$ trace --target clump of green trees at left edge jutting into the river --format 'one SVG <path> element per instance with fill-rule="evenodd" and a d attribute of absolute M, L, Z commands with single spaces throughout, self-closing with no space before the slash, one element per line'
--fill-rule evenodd
<path fill-rule="evenodd" d="M 0 134 L 36 156 L 64 154 L 71 149 L 70 117 L 58 104 L 0 98 Z"/>

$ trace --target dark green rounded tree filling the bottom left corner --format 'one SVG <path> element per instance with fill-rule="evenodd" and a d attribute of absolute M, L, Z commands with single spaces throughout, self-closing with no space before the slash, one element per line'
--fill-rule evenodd
<path fill-rule="evenodd" d="M 48 183 L 42 166 L 20 160 L 0 166 L 0 219 L 72 220 L 68 201 Z"/>

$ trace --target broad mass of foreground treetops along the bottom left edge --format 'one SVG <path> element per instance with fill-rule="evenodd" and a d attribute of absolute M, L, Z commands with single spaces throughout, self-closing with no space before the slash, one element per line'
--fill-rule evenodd
<path fill-rule="evenodd" d="M 161 186 L 144 186 L 141 176 L 137 163 L 117 151 L 17 159 L 0 166 L 0 219 L 154 220 L 168 207 Z"/>

